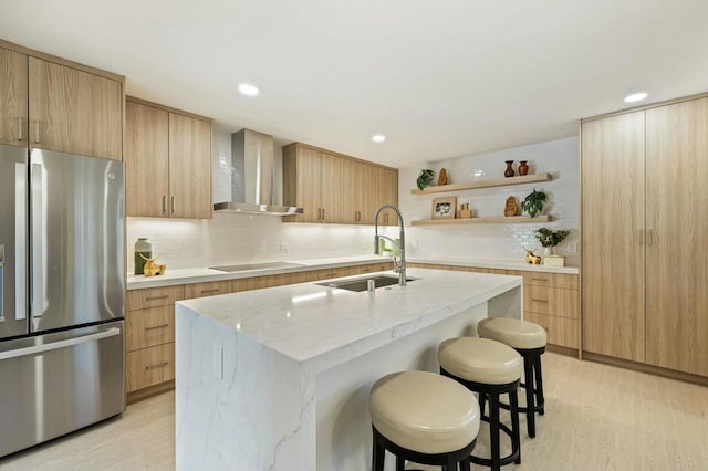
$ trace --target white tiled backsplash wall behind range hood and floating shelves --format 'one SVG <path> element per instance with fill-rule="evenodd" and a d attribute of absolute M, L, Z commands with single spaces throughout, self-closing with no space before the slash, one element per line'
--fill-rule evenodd
<path fill-rule="evenodd" d="M 275 148 L 282 155 L 282 148 Z M 542 143 L 436 163 L 436 171 L 446 167 L 451 181 L 467 181 L 475 169 L 486 172 L 480 178 L 499 178 L 504 160 L 529 160 L 530 172 L 551 172 L 553 180 L 537 184 L 549 193 L 548 213 L 558 221 L 544 224 L 476 224 L 442 228 L 413 228 L 412 219 L 429 219 L 433 196 L 413 196 L 419 168 L 402 169 L 399 174 L 399 206 L 406 224 L 407 250 L 410 257 L 522 259 L 522 245 L 540 247 L 533 230 L 550 228 L 573 229 L 566 242 L 559 245 L 568 255 L 568 263 L 579 261 L 579 158 L 577 138 Z M 214 200 L 230 198 L 231 174 L 230 132 L 215 129 L 214 136 Z M 459 202 L 470 202 L 477 216 L 501 216 L 509 195 L 520 200 L 533 185 L 489 188 L 457 193 Z M 545 212 L 545 211 L 544 211 Z M 397 237 L 395 228 L 385 233 Z M 216 212 L 210 221 L 128 218 L 128 273 L 133 273 L 133 243 L 138 237 L 153 242 L 154 253 L 168 269 L 214 266 L 253 261 L 281 261 L 372 253 L 374 228 L 371 226 L 283 223 L 280 217 L 248 216 Z M 575 244 L 575 253 L 566 253 Z"/>

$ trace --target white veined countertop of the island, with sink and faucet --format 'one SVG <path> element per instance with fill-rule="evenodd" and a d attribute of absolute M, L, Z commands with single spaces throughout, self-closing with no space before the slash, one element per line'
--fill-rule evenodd
<path fill-rule="evenodd" d="M 408 276 L 419 280 L 373 294 L 311 282 L 177 304 L 316 371 L 522 285 L 520 276 L 445 270 L 409 269 Z"/>

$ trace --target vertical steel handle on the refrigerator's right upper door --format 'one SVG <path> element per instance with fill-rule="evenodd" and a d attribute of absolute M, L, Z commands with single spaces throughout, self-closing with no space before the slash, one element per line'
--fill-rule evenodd
<path fill-rule="evenodd" d="M 32 317 L 41 317 L 44 313 L 43 170 L 41 164 L 32 164 Z"/>

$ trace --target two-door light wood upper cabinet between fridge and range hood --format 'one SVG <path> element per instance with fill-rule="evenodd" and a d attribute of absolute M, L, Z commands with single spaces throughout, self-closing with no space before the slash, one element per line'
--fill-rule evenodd
<path fill-rule="evenodd" d="M 162 105 L 126 105 L 127 216 L 211 218 L 211 123 Z"/>

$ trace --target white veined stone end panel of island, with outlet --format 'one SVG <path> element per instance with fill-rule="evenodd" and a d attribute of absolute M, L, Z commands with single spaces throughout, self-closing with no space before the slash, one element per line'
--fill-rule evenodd
<path fill-rule="evenodd" d="M 314 378 L 186 306 L 175 315 L 177 470 L 314 471 Z"/>

